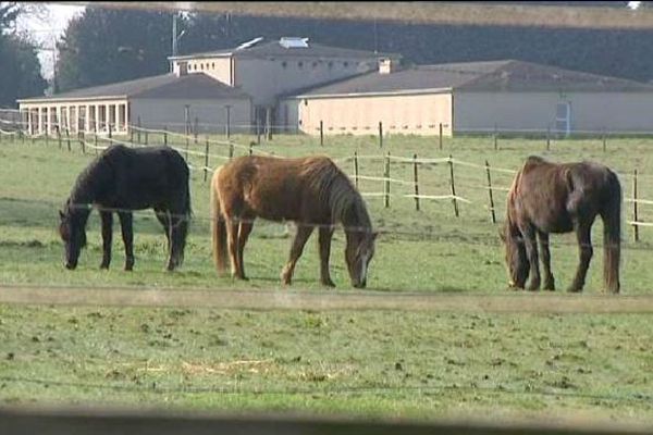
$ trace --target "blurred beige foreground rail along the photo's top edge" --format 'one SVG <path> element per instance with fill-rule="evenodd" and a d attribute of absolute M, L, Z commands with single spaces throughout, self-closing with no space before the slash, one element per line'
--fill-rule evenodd
<path fill-rule="evenodd" d="M 441 2 L 67 2 L 102 8 L 185 10 L 208 13 L 317 20 L 380 20 L 409 24 L 653 28 L 653 11 Z"/>

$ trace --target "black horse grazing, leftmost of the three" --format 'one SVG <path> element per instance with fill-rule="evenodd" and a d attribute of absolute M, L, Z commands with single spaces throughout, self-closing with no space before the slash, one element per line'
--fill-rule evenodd
<path fill-rule="evenodd" d="M 111 262 L 113 216 L 120 217 L 125 245 L 125 270 L 134 266 L 132 210 L 153 208 L 168 238 L 168 270 L 184 260 L 190 217 L 188 166 L 169 147 L 109 147 L 77 177 L 63 211 L 59 233 L 65 244 L 65 266 L 75 269 L 86 245 L 86 222 L 97 206 L 102 221 L 103 256 L 101 269 Z"/>

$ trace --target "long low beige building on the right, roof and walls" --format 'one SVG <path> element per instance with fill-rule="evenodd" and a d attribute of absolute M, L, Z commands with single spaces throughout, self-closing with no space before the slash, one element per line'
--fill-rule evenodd
<path fill-rule="evenodd" d="M 378 71 L 282 99 L 288 128 L 324 134 L 653 130 L 653 86 L 520 61 Z"/>

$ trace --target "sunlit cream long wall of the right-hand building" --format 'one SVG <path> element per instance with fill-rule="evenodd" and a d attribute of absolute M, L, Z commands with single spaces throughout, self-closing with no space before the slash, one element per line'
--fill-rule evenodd
<path fill-rule="evenodd" d="M 438 135 L 442 123 L 443 134 L 451 135 L 448 92 L 287 99 L 280 105 L 282 113 L 287 107 L 288 119 L 283 122 L 310 135 L 320 133 L 320 121 L 325 135 L 378 135 L 379 122 L 384 134 Z"/>

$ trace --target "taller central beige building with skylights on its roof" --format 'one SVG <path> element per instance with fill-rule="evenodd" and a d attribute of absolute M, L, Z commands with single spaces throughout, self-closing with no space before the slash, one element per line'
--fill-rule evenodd
<path fill-rule="evenodd" d="M 251 96 L 255 121 L 274 123 L 279 97 L 299 89 L 377 71 L 378 54 L 313 44 L 308 38 L 256 38 L 236 48 L 169 58 L 173 72 L 204 73 Z"/>

